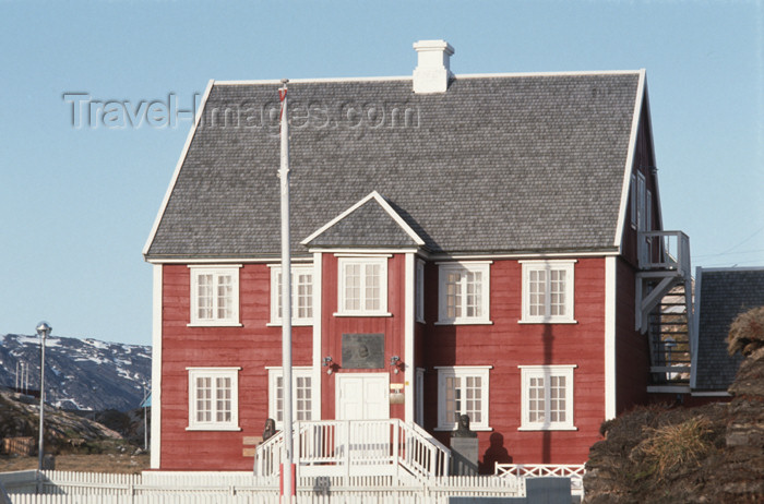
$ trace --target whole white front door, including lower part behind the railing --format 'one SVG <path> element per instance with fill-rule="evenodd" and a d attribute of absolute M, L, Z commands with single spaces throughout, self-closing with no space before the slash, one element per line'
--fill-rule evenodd
<path fill-rule="evenodd" d="M 337 374 L 337 420 L 354 420 L 344 428 L 348 457 L 358 475 L 390 464 L 390 375 L 387 373 Z M 375 421 L 379 420 L 379 421 Z M 342 434 L 341 434 L 342 435 Z M 371 470 L 371 472 L 368 472 Z"/>

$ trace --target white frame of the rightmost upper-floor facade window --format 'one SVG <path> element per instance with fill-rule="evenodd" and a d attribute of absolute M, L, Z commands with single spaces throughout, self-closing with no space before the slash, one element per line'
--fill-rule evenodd
<path fill-rule="evenodd" d="M 561 260 L 561 261 L 521 261 L 523 265 L 523 312 L 521 323 L 524 324 L 575 324 L 575 260 Z M 546 272 L 545 278 L 545 291 L 544 291 L 544 314 L 532 315 L 532 289 L 530 289 L 530 274 L 532 272 Z M 564 284 L 564 314 L 562 315 L 551 315 L 552 307 L 552 292 L 551 292 L 551 272 L 562 271 L 565 272 L 565 284 Z"/>

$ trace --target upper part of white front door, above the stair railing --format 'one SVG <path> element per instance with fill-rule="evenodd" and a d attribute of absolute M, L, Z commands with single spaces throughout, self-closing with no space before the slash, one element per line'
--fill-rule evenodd
<path fill-rule="evenodd" d="M 337 420 L 389 420 L 390 374 L 336 374 Z"/>

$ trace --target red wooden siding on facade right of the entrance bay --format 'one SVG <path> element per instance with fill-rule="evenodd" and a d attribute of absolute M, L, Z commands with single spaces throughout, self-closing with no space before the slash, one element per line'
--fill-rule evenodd
<path fill-rule="evenodd" d="M 427 368 L 426 428 L 438 422 L 437 365 L 493 365 L 490 371 L 489 423 L 479 432 L 479 455 L 485 472 L 500 454 L 514 463 L 581 464 L 599 440 L 605 418 L 605 260 L 581 259 L 575 264 L 576 324 L 520 324 L 522 265 L 494 261 L 491 265 L 491 325 L 434 325 L 438 319 L 438 266 L 428 264 L 426 289 Z M 518 431 L 521 427 L 521 370 L 517 365 L 576 364 L 574 424 L 577 431 Z M 450 433 L 439 432 L 449 443 Z M 504 454 L 503 449 L 506 451 Z"/>

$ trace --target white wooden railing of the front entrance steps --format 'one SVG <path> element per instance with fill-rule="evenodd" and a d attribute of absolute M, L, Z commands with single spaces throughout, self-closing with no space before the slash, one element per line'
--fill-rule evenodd
<path fill-rule="evenodd" d="M 391 420 L 296 422 L 295 460 L 300 476 L 447 476 L 451 451 L 416 424 Z M 258 446 L 254 473 L 276 477 L 284 437 Z M 405 471 L 401 472 L 401 468 Z"/>

